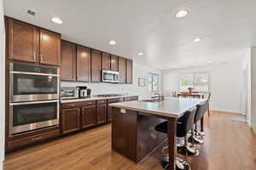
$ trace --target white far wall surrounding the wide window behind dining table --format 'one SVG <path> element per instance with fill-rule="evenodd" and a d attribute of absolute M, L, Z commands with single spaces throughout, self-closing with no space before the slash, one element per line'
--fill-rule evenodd
<path fill-rule="evenodd" d="M 162 71 L 162 90 L 171 95 L 179 91 L 179 77 L 184 73 L 210 72 L 211 110 L 243 113 L 241 102 L 241 63 L 208 65 Z"/>

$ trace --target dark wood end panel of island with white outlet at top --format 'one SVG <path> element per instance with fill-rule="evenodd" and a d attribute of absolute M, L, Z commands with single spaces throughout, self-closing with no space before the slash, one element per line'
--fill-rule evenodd
<path fill-rule="evenodd" d="M 137 162 L 137 111 L 112 111 L 112 150 Z"/>

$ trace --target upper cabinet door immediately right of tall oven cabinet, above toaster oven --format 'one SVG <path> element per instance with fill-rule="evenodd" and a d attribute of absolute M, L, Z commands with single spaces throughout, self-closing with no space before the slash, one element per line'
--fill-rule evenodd
<path fill-rule="evenodd" d="M 76 80 L 76 45 L 61 41 L 61 80 Z"/>

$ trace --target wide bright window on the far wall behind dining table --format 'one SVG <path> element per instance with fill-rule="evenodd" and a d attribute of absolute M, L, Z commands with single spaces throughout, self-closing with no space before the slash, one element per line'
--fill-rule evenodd
<path fill-rule="evenodd" d="M 181 91 L 193 88 L 197 92 L 209 92 L 209 82 L 208 72 L 183 74 L 180 78 L 179 88 Z"/>

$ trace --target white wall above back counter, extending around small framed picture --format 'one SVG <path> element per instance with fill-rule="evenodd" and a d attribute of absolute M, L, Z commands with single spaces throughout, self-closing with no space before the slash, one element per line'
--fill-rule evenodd
<path fill-rule="evenodd" d="M 137 94 L 140 99 L 147 99 L 151 93 L 146 87 L 138 87 L 138 78 L 147 78 L 148 73 L 161 74 L 160 70 L 138 64 L 136 60 L 133 62 L 133 84 L 114 84 L 114 83 L 84 83 L 84 82 L 61 82 L 61 87 L 76 87 L 85 85 L 92 89 L 92 94 Z M 161 79 L 160 85 L 161 87 Z"/>

